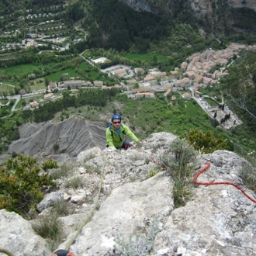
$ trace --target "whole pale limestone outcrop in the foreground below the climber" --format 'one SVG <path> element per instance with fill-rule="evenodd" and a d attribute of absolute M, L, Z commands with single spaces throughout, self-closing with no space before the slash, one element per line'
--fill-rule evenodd
<path fill-rule="evenodd" d="M 117 256 L 125 253 L 125 245 L 139 250 L 138 255 L 253 256 L 256 205 L 234 186 L 194 186 L 192 199 L 185 206 L 175 208 L 171 176 L 161 171 L 148 177 L 150 170 L 159 168 L 160 157 L 167 154 L 175 138 L 171 133 L 154 133 L 144 140 L 140 149 L 119 151 L 93 147 L 78 154 L 73 177 L 78 176 L 82 186 L 67 189 L 65 178 L 58 179 L 58 191 L 46 195 L 38 205 L 40 216 L 47 216 L 54 199 L 61 197 L 74 209 L 69 216 L 60 218 L 66 241 L 59 248 L 66 247 L 81 227 L 70 247 L 79 256 Z M 234 182 L 255 198 L 255 193 L 246 189 L 240 178 L 240 172 L 248 164 L 244 158 L 227 150 L 202 154 L 195 173 L 206 162 L 210 168 L 199 176 L 200 182 Z M 75 197 L 77 200 L 72 200 Z M 92 218 L 88 218 L 91 213 L 94 213 Z M 9 227 L 29 224 L 15 213 L 4 211 L 4 214 L 9 221 L 0 219 L 0 230 L 5 230 L 0 231 L 0 247 L 26 248 L 27 240 L 22 237 L 35 239 L 36 235 L 26 230 L 28 234 L 13 237 Z M 48 249 L 43 241 L 40 250 L 44 253 Z M 29 243 L 31 251 L 26 254 L 12 252 L 34 256 L 36 243 L 36 240 Z"/>

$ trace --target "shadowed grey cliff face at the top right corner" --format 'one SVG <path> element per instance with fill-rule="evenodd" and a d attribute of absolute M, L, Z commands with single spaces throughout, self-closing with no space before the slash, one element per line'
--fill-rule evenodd
<path fill-rule="evenodd" d="M 193 17 L 209 35 L 227 34 L 228 30 L 256 31 L 256 3 L 254 0 L 123 0 L 137 11 Z"/>

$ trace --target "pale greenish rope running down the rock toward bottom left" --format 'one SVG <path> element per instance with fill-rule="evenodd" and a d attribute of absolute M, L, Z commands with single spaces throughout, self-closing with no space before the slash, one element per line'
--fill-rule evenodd
<path fill-rule="evenodd" d="M 104 174 L 104 169 L 105 169 L 105 166 L 106 166 L 106 159 L 104 161 L 104 164 L 103 164 L 103 168 L 102 168 L 102 174 L 101 174 L 101 181 L 100 181 L 100 184 L 99 184 L 99 191 L 98 191 L 98 195 L 97 195 L 97 198 L 95 200 L 95 205 L 90 213 L 90 215 L 88 216 L 88 218 L 85 220 L 84 223 L 81 224 L 81 226 L 78 228 L 77 232 L 74 234 L 74 237 L 71 238 L 71 240 L 69 240 L 67 242 L 67 245 L 65 246 L 64 250 L 63 249 L 59 249 L 57 251 L 67 251 L 69 254 L 66 254 L 67 256 L 74 256 L 74 253 L 72 252 L 69 252 L 69 248 L 71 247 L 71 244 L 74 243 L 74 240 L 76 240 L 78 238 L 78 235 L 81 233 L 81 230 L 83 227 L 85 227 L 85 225 L 90 221 L 92 220 L 92 216 L 94 215 L 95 213 L 95 210 L 97 209 L 97 206 L 98 206 L 98 202 L 99 202 L 99 194 L 102 190 L 102 182 L 103 182 L 103 174 Z M 54 256 L 54 254 L 57 254 L 57 251 L 55 251 L 52 256 Z M 61 255 L 61 254 L 60 254 Z M 64 255 L 64 254 L 63 254 Z M 66 256 L 65 255 L 65 256 Z M 12 256 L 12 255 L 10 255 Z M 57 256 L 59 256 L 59 254 L 57 254 Z"/>

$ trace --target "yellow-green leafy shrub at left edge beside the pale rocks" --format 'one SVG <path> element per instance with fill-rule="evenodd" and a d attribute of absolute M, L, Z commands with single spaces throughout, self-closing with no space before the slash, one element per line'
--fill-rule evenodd
<path fill-rule="evenodd" d="M 43 162 L 43 170 L 56 168 L 53 160 Z M 40 175 L 35 157 L 17 154 L 0 168 L 0 209 L 26 214 L 43 199 L 47 186 L 56 185 L 47 173 Z"/>

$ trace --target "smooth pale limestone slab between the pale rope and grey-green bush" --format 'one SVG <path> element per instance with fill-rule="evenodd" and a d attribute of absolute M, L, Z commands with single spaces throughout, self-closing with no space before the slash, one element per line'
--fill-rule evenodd
<path fill-rule="evenodd" d="M 170 178 L 161 173 L 144 182 L 114 189 L 81 231 L 71 251 L 78 255 L 111 253 L 117 234 L 128 239 L 130 234 L 144 232 L 146 221 L 153 216 L 164 218 L 171 213 L 174 207 L 171 188 Z"/>

